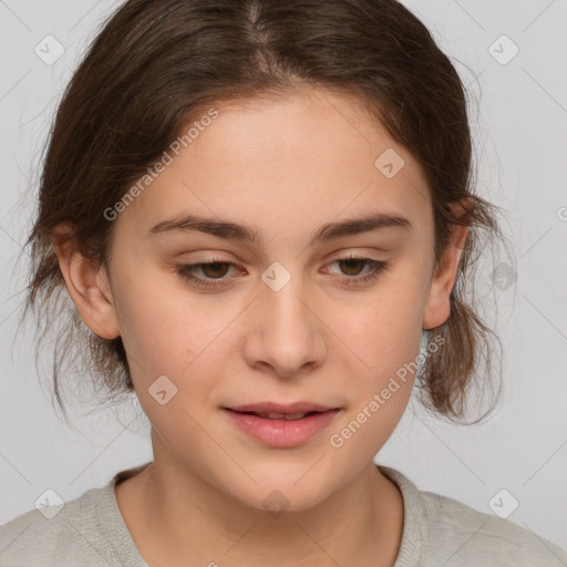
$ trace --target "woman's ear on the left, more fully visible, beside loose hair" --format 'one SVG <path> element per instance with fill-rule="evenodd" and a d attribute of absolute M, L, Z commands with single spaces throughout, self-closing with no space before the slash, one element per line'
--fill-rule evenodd
<path fill-rule="evenodd" d="M 69 295 L 86 327 L 102 339 L 120 337 L 104 267 L 96 266 L 80 252 L 71 225 L 58 225 L 51 239 Z"/>

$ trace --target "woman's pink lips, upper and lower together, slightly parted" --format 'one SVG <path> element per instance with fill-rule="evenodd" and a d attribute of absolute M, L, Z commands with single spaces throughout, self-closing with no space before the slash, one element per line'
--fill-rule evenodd
<path fill-rule="evenodd" d="M 329 426 L 339 411 L 338 408 L 326 408 L 310 402 L 288 405 L 261 403 L 223 408 L 223 412 L 240 431 L 265 445 L 279 449 L 295 447 L 307 443 L 317 433 Z M 306 415 L 300 420 L 270 420 L 244 412 L 317 413 Z"/>

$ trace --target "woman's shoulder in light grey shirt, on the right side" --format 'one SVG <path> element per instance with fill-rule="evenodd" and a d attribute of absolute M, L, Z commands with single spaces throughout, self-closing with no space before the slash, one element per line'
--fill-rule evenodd
<path fill-rule="evenodd" d="M 408 529 L 406 539 L 412 539 L 412 549 L 416 549 L 415 565 L 567 566 L 567 553 L 534 532 L 449 496 L 420 491 L 399 471 L 380 468 L 402 492 L 404 532 Z"/>

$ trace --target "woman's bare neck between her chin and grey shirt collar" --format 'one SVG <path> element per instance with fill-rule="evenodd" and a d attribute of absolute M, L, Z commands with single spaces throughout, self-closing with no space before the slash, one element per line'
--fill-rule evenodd
<path fill-rule="evenodd" d="M 154 463 L 116 486 L 126 525 L 150 565 L 187 566 L 187 557 L 210 567 L 395 563 L 403 499 L 373 463 L 317 506 L 276 515 L 154 454 Z"/>

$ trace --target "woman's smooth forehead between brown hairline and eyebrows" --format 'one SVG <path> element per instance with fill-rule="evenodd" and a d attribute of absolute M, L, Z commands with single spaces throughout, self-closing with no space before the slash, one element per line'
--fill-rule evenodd
<path fill-rule="evenodd" d="M 306 237 L 316 226 L 371 212 L 427 223 L 421 168 L 352 96 L 309 91 L 210 109 L 217 117 L 194 127 L 190 142 L 178 155 L 169 152 L 171 163 L 128 206 L 140 236 L 183 213 L 251 225 L 268 238 Z"/>

